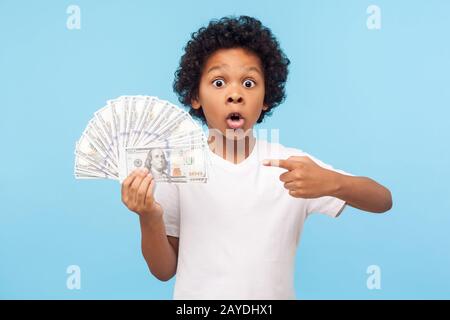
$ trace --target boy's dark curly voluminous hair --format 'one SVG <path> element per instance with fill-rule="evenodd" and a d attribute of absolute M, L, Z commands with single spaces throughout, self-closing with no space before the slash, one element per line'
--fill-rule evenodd
<path fill-rule="evenodd" d="M 261 60 L 265 79 L 264 104 L 268 107 L 257 120 L 257 123 L 261 123 L 285 98 L 284 86 L 290 61 L 270 29 L 255 18 L 224 17 L 212 20 L 207 27 L 192 33 L 175 72 L 173 89 L 178 100 L 190 107 L 192 99 L 198 98 L 202 70 L 207 59 L 217 50 L 229 48 L 246 49 Z M 206 122 L 202 108 L 190 108 L 189 113 Z"/>

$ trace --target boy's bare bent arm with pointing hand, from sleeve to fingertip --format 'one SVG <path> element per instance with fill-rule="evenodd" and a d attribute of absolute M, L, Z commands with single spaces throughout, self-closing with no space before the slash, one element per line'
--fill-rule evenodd
<path fill-rule="evenodd" d="M 284 187 L 296 198 L 333 196 L 352 207 L 382 213 L 392 208 L 391 192 L 366 177 L 353 177 L 325 169 L 309 157 L 265 160 L 264 165 L 288 170 L 280 175 Z"/>

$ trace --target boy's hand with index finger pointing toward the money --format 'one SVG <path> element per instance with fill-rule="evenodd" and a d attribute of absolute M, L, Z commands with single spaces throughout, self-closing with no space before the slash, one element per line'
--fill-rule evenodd
<path fill-rule="evenodd" d="M 306 156 L 264 160 L 263 164 L 288 170 L 280 175 L 280 180 L 295 198 L 332 196 L 338 189 L 339 174 L 322 168 Z"/>

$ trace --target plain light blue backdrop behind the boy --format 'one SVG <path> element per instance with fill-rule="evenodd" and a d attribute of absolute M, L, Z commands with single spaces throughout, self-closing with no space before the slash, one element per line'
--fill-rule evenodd
<path fill-rule="evenodd" d="M 69 30 L 69 5 L 81 29 Z M 381 8 L 382 27 L 366 27 Z M 287 100 L 261 126 L 281 143 L 371 177 L 383 215 L 308 219 L 299 299 L 450 298 L 449 1 L 0 0 L 0 298 L 171 299 L 140 251 L 115 181 L 73 178 L 93 112 L 124 94 L 178 103 L 173 73 L 190 33 L 255 16 L 290 58 Z M 81 289 L 66 287 L 69 265 Z M 381 289 L 366 286 L 369 265 Z"/>

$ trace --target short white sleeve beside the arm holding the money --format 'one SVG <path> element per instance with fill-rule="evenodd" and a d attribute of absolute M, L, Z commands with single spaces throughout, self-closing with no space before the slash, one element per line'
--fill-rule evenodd
<path fill-rule="evenodd" d="M 163 209 L 163 219 L 168 236 L 180 236 L 180 196 L 179 189 L 173 183 L 156 183 L 155 200 Z"/>

